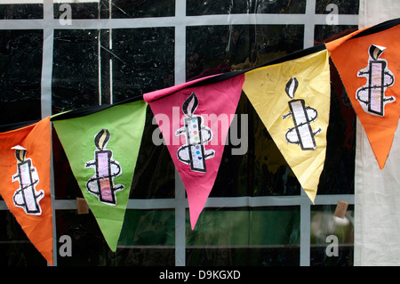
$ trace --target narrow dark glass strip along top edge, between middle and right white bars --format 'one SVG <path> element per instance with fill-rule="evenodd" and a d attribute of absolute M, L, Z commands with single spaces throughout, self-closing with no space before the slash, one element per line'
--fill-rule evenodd
<path fill-rule="evenodd" d="M 306 0 L 188 0 L 187 2 L 188 16 L 230 13 L 304 13 L 305 11 Z"/>

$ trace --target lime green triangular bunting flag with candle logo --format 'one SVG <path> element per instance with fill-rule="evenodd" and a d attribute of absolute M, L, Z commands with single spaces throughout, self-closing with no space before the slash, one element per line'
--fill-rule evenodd
<path fill-rule="evenodd" d="M 84 199 L 112 251 L 124 223 L 146 109 L 141 100 L 52 118 Z"/>

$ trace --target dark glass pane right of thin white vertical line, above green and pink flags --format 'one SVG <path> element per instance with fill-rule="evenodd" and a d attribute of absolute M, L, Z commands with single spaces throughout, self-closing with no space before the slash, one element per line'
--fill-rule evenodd
<path fill-rule="evenodd" d="M 174 28 L 122 28 L 112 33 L 115 102 L 174 84 Z"/>

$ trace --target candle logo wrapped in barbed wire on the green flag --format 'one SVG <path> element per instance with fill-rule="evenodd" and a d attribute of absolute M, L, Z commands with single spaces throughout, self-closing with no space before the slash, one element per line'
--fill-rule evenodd
<path fill-rule="evenodd" d="M 110 139 L 108 129 L 101 129 L 94 136 L 94 160 L 88 161 L 85 168 L 94 168 L 95 174 L 86 183 L 89 193 L 96 196 L 101 203 L 116 205 L 116 191 L 124 190 L 124 185 L 114 184 L 114 178 L 122 174 L 119 163 L 113 159 L 113 151 L 107 150 L 106 146 Z"/>

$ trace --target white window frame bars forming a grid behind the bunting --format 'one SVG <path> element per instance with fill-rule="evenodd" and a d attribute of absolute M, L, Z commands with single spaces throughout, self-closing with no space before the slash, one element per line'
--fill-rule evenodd
<path fill-rule="evenodd" d="M 41 80 L 42 118 L 52 115 L 52 56 L 54 29 L 113 29 L 113 28 L 175 28 L 175 54 L 186 54 L 186 28 L 193 26 L 210 25 L 274 25 L 293 24 L 304 25 L 304 46 L 314 45 L 314 28 L 316 25 L 327 25 L 326 14 L 316 14 L 316 0 L 307 0 L 304 14 L 223 14 L 187 16 L 186 0 L 175 0 L 175 15 L 160 18 L 135 19 L 96 19 L 71 20 L 70 25 L 62 25 L 60 20 L 54 19 L 52 0 L 25 0 L 43 3 L 44 18 L 36 20 L 0 20 L 0 29 L 42 29 L 44 31 L 43 66 Z M 24 0 L 0 1 L 0 4 L 26 3 Z M 58 1 L 54 3 L 68 3 Z M 99 2 L 84 0 L 82 2 Z M 357 14 L 339 14 L 338 25 L 358 25 Z M 174 61 L 175 84 L 186 81 L 186 58 L 175 56 Z M 54 199 L 52 183 L 53 213 L 55 210 L 76 209 L 76 200 Z M 339 200 L 354 205 L 354 194 L 326 194 L 316 195 L 315 205 L 336 205 Z M 265 196 L 239 198 L 209 198 L 205 207 L 276 207 L 300 206 L 300 266 L 310 265 L 310 217 L 311 202 L 302 193 L 298 196 Z M 175 172 L 174 199 L 129 199 L 127 209 L 174 209 L 175 210 L 175 265 L 186 264 L 186 210 L 188 200 L 185 198 L 185 189 L 180 176 Z M 0 210 L 8 210 L 4 201 L 0 202 Z M 54 218 L 53 218 L 54 219 Z M 54 236 L 56 236 L 55 220 Z M 57 238 L 54 238 L 54 247 L 57 247 Z M 54 265 L 57 265 L 57 254 L 54 254 Z"/>

